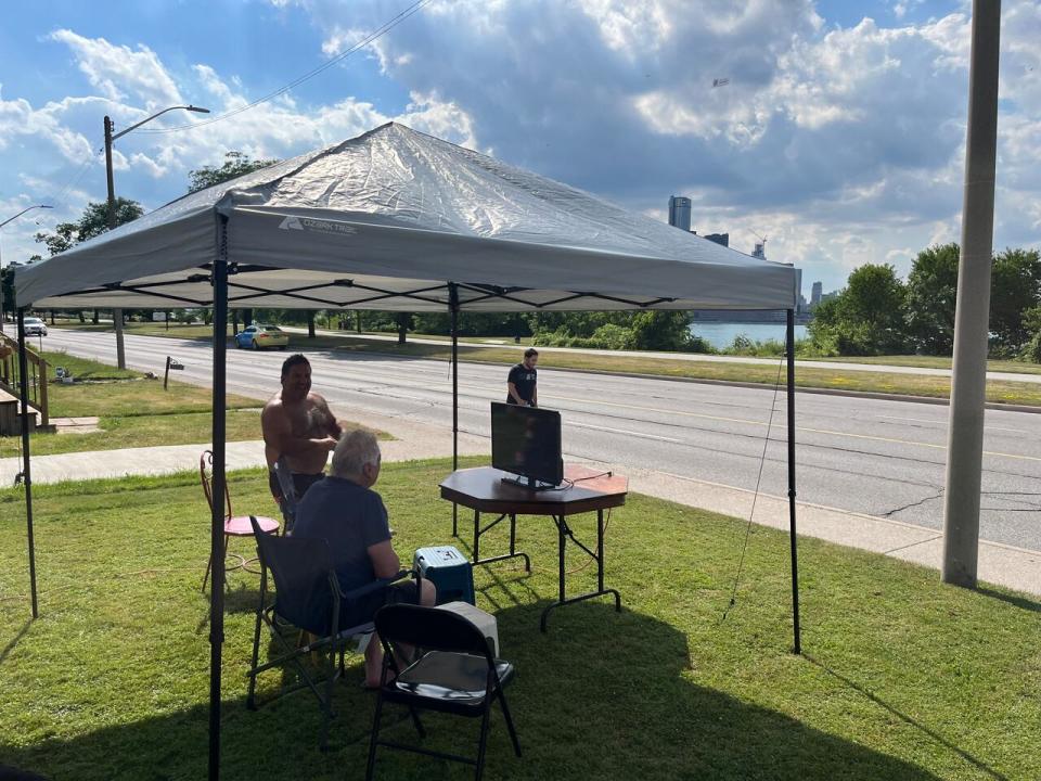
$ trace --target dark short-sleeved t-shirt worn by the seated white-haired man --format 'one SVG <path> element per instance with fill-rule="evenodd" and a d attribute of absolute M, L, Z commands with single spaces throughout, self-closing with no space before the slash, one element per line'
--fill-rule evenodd
<path fill-rule="evenodd" d="M 293 536 L 326 540 L 339 587 L 350 591 L 376 579 L 369 548 L 390 539 L 387 509 L 374 490 L 330 475 L 304 496 Z"/>

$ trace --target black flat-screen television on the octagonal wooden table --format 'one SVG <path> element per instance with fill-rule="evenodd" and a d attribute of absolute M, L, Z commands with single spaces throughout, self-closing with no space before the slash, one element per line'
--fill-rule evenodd
<path fill-rule="evenodd" d="M 561 413 L 492 402 L 491 465 L 529 481 L 563 483 Z"/>

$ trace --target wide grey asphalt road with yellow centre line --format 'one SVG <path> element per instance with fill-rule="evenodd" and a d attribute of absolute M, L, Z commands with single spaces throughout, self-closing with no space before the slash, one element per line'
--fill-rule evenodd
<path fill-rule="evenodd" d="M 114 362 L 113 334 L 54 329 L 44 341 L 48 349 Z M 126 348 L 131 368 L 162 373 L 174 355 L 185 367 L 178 379 L 210 381 L 210 349 L 203 343 L 128 335 Z M 229 390 L 270 395 L 285 355 L 229 349 Z M 445 362 L 308 356 L 314 389 L 339 417 L 364 410 L 451 426 Z M 539 400 L 563 413 L 566 454 L 748 489 L 762 464 L 761 490 L 786 494 L 783 390 L 561 372 L 545 358 Z M 487 436 L 488 402 L 504 399 L 505 368 L 462 363 L 459 385 L 460 428 Z M 799 499 L 941 528 L 947 413 L 938 405 L 798 394 Z M 1041 550 L 1041 414 L 988 411 L 985 451 L 981 537 Z"/>

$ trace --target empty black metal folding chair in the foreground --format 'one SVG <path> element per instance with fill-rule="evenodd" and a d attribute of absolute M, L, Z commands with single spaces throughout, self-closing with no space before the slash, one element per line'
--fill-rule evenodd
<path fill-rule="evenodd" d="M 476 768 L 475 779 L 480 781 L 485 770 L 485 748 L 488 743 L 488 720 L 491 704 L 496 700 L 502 707 L 513 750 L 520 756 L 520 743 L 510 717 L 503 687 L 513 680 L 513 665 L 497 660 L 488 640 L 474 624 L 463 616 L 437 607 L 419 607 L 398 604 L 383 607 L 376 613 L 376 632 L 384 648 L 383 675 L 376 713 L 373 717 L 372 739 L 369 744 L 369 766 L 365 781 L 372 781 L 376 764 L 376 747 L 386 746 L 451 759 Z M 395 655 L 395 646 L 412 645 L 424 653 L 408 667 L 401 668 Z M 390 679 L 389 673 L 395 674 Z M 412 713 L 412 721 L 421 738 L 426 735 L 416 715 L 417 709 L 479 717 L 480 740 L 477 758 L 429 751 L 416 745 L 404 745 L 380 739 L 383 703 L 406 705 Z"/>

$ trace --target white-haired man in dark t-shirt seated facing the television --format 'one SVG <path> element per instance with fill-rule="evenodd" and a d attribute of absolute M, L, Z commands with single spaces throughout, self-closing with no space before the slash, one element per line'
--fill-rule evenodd
<path fill-rule="evenodd" d="M 333 568 L 345 592 L 394 577 L 401 566 L 390 545 L 387 510 L 380 495 L 372 490 L 380 478 L 380 445 L 371 432 L 345 432 L 333 450 L 329 476 L 316 483 L 297 508 L 293 536 L 329 542 Z M 372 620 L 385 604 L 433 605 L 434 584 L 422 580 L 419 597 L 414 580 L 393 584 L 356 603 L 344 604 L 339 625 L 346 628 Z M 382 665 L 383 646 L 373 637 L 365 650 L 365 686 L 380 686 Z"/>

